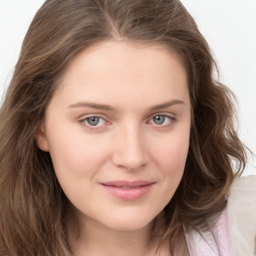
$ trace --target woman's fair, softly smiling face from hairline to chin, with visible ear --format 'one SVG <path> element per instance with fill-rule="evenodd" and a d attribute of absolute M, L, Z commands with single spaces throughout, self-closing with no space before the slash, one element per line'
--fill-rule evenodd
<path fill-rule="evenodd" d="M 173 196 L 189 130 L 186 73 L 177 58 L 160 46 L 105 42 L 72 60 L 37 144 L 49 151 L 76 218 L 135 230 Z"/>

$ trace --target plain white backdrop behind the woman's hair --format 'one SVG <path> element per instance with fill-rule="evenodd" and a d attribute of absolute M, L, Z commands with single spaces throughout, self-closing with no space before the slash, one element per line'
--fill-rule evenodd
<path fill-rule="evenodd" d="M 0 96 L 26 30 L 44 0 L 0 0 Z M 238 99 L 239 134 L 256 153 L 256 0 L 181 0 L 213 50 L 221 82 Z M 251 158 L 244 174 L 256 174 Z"/>

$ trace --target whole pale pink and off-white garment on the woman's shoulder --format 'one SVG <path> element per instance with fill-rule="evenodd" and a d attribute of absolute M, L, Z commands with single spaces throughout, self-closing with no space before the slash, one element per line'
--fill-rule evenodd
<path fill-rule="evenodd" d="M 184 226 L 191 256 L 256 255 L 256 176 L 236 177 L 227 198 L 225 209 L 213 216 L 213 226 L 203 232 Z"/>

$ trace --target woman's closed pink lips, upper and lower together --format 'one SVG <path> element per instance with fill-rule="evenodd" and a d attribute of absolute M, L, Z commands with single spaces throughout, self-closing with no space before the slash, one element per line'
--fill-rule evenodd
<path fill-rule="evenodd" d="M 122 200 L 137 200 L 145 195 L 154 182 L 146 180 L 117 180 L 100 183 L 110 194 Z"/>

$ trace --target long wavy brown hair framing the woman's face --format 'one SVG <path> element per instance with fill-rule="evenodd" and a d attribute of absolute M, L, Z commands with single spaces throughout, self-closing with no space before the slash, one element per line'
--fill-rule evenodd
<path fill-rule="evenodd" d="M 206 217 L 225 207 L 246 151 L 234 128 L 233 94 L 216 80 L 210 48 L 184 6 L 178 0 L 46 0 L 26 33 L 0 109 L 0 255 L 72 255 L 68 200 L 35 135 L 73 56 L 109 40 L 161 44 L 186 68 L 190 146 L 182 180 L 164 208 L 162 240 L 171 253 L 182 255 L 182 224 L 203 228 Z"/>

